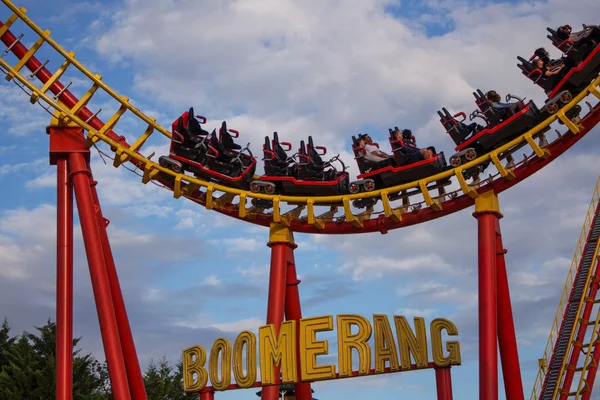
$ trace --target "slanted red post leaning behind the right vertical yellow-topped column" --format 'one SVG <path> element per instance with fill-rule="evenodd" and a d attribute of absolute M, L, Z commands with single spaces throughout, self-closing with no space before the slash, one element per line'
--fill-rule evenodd
<path fill-rule="evenodd" d="M 510 301 L 510 289 L 506 262 L 506 250 L 502 244 L 500 221 L 496 219 L 496 284 L 498 290 L 498 344 L 500 359 L 502 361 L 502 376 L 504 377 L 504 391 L 510 400 L 523 400 L 523 381 L 519 365 L 519 352 L 515 323 L 513 320 Z"/>

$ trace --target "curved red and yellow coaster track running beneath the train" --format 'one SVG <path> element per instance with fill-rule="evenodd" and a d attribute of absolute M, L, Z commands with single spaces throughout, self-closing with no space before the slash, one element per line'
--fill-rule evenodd
<path fill-rule="evenodd" d="M 15 6 L 8 0 L 1 0 L 14 13 L 7 21 L 0 22 L 0 38 L 7 49 L 5 53 L 12 52 L 19 60 L 16 65 L 10 65 L 0 58 L 0 67 L 7 75 L 7 80 L 13 80 L 26 92 L 30 92 L 31 102 L 44 101 L 55 111 L 55 116 L 63 122 L 71 122 L 80 126 L 87 132 L 86 140 L 89 147 L 101 141 L 115 153 L 114 166 L 123 163 L 132 163 L 142 173 L 142 182 L 147 184 L 155 181 L 173 192 L 175 198 L 186 197 L 209 210 L 214 210 L 229 217 L 240 219 L 257 225 L 269 226 L 272 223 L 283 224 L 295 232 L 318 234 L 355 234 L 367 232 L 387 233 L 389 230 L 415 225 L 425 221 L 444 217 L 454 212 L 474 205 L 475 199 L 481 194 L 493 190 L 501 193 L 517 183 L 525 180 L 539 171 L 551 161 L 577 143 L 598 122 L 600 122 L 600 103 L 591 106 L 588 102 L 589 112 L 582 120 L 574 124 L 565 113 L 572 107 L 585 101 L 588 96 L 600 99 L 600 77 L 597 77 L 572 101 L 566 104 L 556 114 L 539 123 L 535 128 L 526 132 L 511 142 L 487 153 L 458 168 L 444 171 L 440 174 L 407 184 L 389 187 L 372 192 L 347 194 L 327 197 L 294 197 L 283 195 L 267 195 L 252 193 L 213 182 L 207 182 L 195 177 L 178 174 L 168 168 L 160 166 L 150 157 L 142 155 L 140 150 L 150 135 L 158 131 L 167 138 L 171 133 L 156 122 L 152 117 L 142 113 L 129 103 L 128 98 L 119 95 L 102 81 L 101 76 L 95 75 L 74 58 L 74 54 L 67 52 L 52 38 L 50 33 L 39 28 L 26 16 L 26 9 Z M 21 42 L 23 35 L 16 37 L 10 27 L 16 21 L 22 21 L 39 38 L 28 49 Z M 41 63 L 35 58 L 35 52 L 43 45 L 48 44 L 54 49 L 64 63 L 55 73 L 50 72 L 46 63 Z M 86 76 L 92 84 L 91 89 L 81 98 L 76 97 L 68 90 L 69 84 L 63 85 L 59 78 L 69 66 L 74 66 Z M 27 67 L 32 73 L 30 78 L 37 77 L 43 86 L 33 84 L 20 70 Z M 90 99 L 102 90 L 114 101 L 119 103 L 118 111 L 104 123 L 86 107 Z M 54 96 L 50 96 L 51 92 Z M 590 98 L 592 98 L 590 96 Z M 132 144 L 128 144 L 123 136 L 115 132 L 115 127 L 125 112 L 133 113 L 139 120 L 148 125 L 146 131 Z M 560 120 L 568 131 L 545 145 L 538 145 L 536 139 L 541 138 L 551 124 Z M 558 132 L 558 130 L 557 130 Z M 545 139 L 545 136 L 543 137 Z M 514 167 L 505 167 L 501 159 L 507 152 L 514 152 L 523 146 L 532 150 L 530 156 Z M 497 173 L 477 184 L 468 184 L 462 171 L 478 165 L 490 163 L 496 168 Z M 428 185 L 443 179 L 451 178 L 458 188 L 449 193 L 433 195 Z M 247 201 L 252 198 L 269 200 L 273 207 L 270 212 L 256 207 L 247 207 Z M 360 198 L 378 198 L 381 201 L 381 210 L 367 208 L 366 211 L 355 213 L 352 201 Z M 402 199 L 402 205 L 396 207 L 392 201 Z M 410 205 L 410 200 L 417 199 Z M 236 202 L 237 200 L 237 202 Z M 284 205 L 293 207 L 284 211 Z M 326 209 L 320 215 L 317 209 Z"/>

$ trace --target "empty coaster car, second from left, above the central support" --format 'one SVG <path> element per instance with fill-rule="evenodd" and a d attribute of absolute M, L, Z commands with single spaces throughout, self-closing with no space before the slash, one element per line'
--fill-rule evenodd
<path fill-rule="evenodd" d="M 348 193 L 350 175 L 339 155 L 324 162 L 321 156 L 327 153 L 327 149 L 314 146 L 311 136 L 308 137 L 306 146 L 304 140 L 300 142 L 298 154 L 291 157 L 288 157 L 282 146 L 286 146 L 287 151 L 292 148 L 291 143 L 279 142 L 277 132 L 273 134 L 272 141 L 269 141 L 268 136 L 265 137 L 265 175 L 250 184 L 250 191 L 291 196 L 334 196 Z M 317 150 L 322 153 L 319 154 Z M 338 171 L 332 164 L 335 161 L 342 164 L 342 171 Z M 267 208 L 266 206 L 263 204 L 263 208 Z"/>

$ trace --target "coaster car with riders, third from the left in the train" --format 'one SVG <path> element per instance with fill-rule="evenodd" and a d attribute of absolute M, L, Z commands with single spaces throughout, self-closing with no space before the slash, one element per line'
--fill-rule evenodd
<path fill-rule="evenodd" d="M 352 136 L 352 151 L 360 175 L 357 177 L 358 181 L 350 184 L 350 193 L 358 193 L 362 190 L 369 192 L 375 188 L 383 189 L 401 185 L 438 174 L 447 169 L 444 152 L 440 152 L 428 160 L 409 164 L 412 155 L 401 140 L 394 139 L 392 130 L 390 130 L 389 141 L 394 151 L 394 158 L 375 163 L 365 158 L 365 148 L 360 146 L 355 136 Z"/>

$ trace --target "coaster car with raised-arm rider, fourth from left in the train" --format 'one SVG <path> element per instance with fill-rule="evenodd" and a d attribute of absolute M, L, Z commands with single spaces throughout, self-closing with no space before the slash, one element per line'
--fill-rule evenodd
<path fill-rule="evenodd" d="M 473 95 L 479 110 L 471 113 L 470 120 L 482 118 L 486 123 L 485 127 L 476 123 L 465 124 L 464 112 L 452 116 L 445 108 L 438 111 L 440 123 L 457 145 L 456 153 L 449 160 L 453 167 L 472 161 L 510 142 L 543 120 L 533 101 L 529 101 L 522 110 L 510 114 L 507 110 L 494 107 L 492 101 L 488 100 L 481 90 L 477 89 Z M 506 96 L 506 101 L 511 98 L 522 101 L 511 95 Z M 462 119 L 459 120 L 459 117 Z"/>

